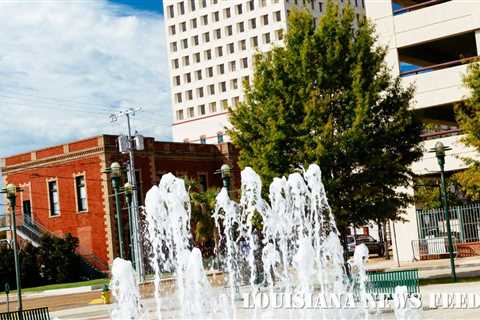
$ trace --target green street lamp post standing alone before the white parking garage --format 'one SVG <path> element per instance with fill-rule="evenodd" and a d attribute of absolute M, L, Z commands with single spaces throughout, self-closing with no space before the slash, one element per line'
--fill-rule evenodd
<path fill-rule="evenodd" d="M 445 186 L 445 151 L 451 150 L 449 147 L 445 147 L 442 142 L 437 142 L 435 148 L 431 151 L 435 152 L 438 165 L 440 166 L 440 189 L 442 192 L 442 205 L 445 211 L 445 219 L 447 223 L 447 236 L 448 236 L 448 253 L 450 255 L 450 268 L 452 272 L 453 281 L 457 281 L 457 274 L 455 272 L 455 257 L 453 255 L 453 241 L 452 241 L 452 229 L 450 226 L 450 212 L 448 209 L 448 196 L 447 188 Z"/>

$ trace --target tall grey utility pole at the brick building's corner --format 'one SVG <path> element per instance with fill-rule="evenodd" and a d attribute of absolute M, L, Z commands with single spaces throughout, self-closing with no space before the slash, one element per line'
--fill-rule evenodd
<path fill-rule="evenodd" d="M 137 179 L 135 176 L 135 162 L 134 162 L 134 150 L 143 150 L 143 137 L 132 135 L 132 128 L 130 124 L 130 117 L 134 117 L 135 113 L 140 111 L 142 108 L 129 108 L 123 111 L 119 111 L 117 113 L 112 113 L 110 115 L 110 119 L 112 122 L 116 122 L 119 116 L 125 116 L 127 118 L 127 127 L 128 127 L 128 135 L 126 137 L 127 143 L 126 146 L 122 145 L 122 139 L 124 136 L 119 137 L 119 147 L 120 152 L 128 153 L 128 182 L 133 186 L 133 190 L 138 190 L 137 186 Z M 140 139 L 137 139 L 139 138 Z M 141 141 L 140 141 L 141 140 Z M 139 205 L 138 205 L 138 193 L 132 193 L 132 215 L 131 215 L 131 226 L 132 226 L 132 236 L 133 236 L 133 252 L 135 254 L 134 262 L 135 262 L 135 270 L 137 271 L 138 279 L 140 282 L 145 281 L 145 272 L 143 266 L 143 251 L 142 251 L 142 244 L 141 244 L 141 237 L 140 237 L 140 230 L 139 230 Z"/>

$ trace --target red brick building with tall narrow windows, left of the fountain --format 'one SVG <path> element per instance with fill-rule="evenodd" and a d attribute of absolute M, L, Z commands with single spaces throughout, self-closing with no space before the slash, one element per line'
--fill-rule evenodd
<path fill-rule="evenodd" d="M 233 167 L 232 184 L 239 185 L 231 144 L 159 142 L 153 138 L 145 138 L 144 144 L 143 151 L 135 152 L 141 204 L 145 193 L 168 172 L 196 180 L 203 188 L 219 187 L 221 178 L 215 171 L 228 163 Z M 17 196 L 18 224 L 27 222 L 33 226 L 31 231 L 45 229 L 58 236 L 71 233 L 79 238 L 78 253 L 106 270 L 117 256 L 118 241 L 111 180 L 102 172 L 114 161 L 123 164 L 127 155 L 118 152 L 117 137 L 111 135 L 2 159 L 5 185 L 14 183 L 23 189 Z M 125 208 L 122 214 L 126 222 Z M 21 230 L 19 234 L 28 236 Z"/>

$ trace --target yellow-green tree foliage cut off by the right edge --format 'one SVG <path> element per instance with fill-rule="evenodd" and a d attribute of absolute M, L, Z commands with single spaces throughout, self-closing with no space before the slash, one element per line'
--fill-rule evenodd
<path fill-rule="evenodd" d="M 480 62 L 473 63 L 463 82 L 470 90 L 470 97 L 455 106 L 460 128 L 465 133 L 463 142 L 480 151 Z M 480 201 L 480 161 L 464 159 L 469 167 L 455 175 L 462 191 L 469 200 Z"/>

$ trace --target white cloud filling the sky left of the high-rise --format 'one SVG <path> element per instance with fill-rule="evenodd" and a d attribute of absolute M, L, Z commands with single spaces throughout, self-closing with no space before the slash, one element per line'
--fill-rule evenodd
<path fill-rule="evenodd" d="M 135 129 L 170 139 L 163 17 L 106 1 L 0 2 L 0 157 Z"/>

